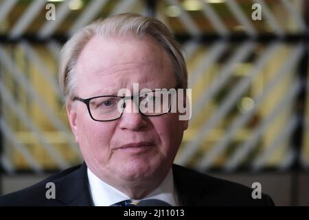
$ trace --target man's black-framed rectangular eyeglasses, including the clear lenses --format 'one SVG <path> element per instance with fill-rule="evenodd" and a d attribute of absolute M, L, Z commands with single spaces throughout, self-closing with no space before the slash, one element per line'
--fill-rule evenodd
<path fill-rule="evenodd" d="M 74 97 L 87 105 L 90 117 L 98 122 L 117 120 L 124 113 L 126 100 L 133 100 L 138 105 L 138 112 L 146 116 L 158 116 L 170 111 L 175 89 L 152 90 L 134 96 L 95 96 L 92 98 Z M 130 105 L 132 107 L 132 105 Z M 129 111 L 132 112 L 132 111 Z M 133 109 L 134 112 L 134 109 Z"/>

